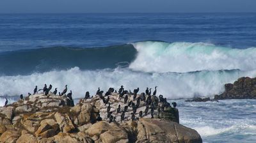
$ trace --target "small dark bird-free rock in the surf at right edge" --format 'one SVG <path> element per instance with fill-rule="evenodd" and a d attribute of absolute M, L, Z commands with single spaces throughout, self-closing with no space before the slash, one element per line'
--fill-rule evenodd
<path fill-rule="evenodd" d="M 234 84 L 225 84 L 225 91 L 214 99 L 256 99 L 256 78 L 241 77 Z"/>

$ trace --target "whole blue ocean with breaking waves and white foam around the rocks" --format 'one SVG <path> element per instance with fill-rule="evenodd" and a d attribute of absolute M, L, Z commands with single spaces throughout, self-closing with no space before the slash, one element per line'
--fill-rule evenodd
<path fill-rule="evenodd" d="M 256 13 L 0 14 L 1 105 L 44 84 L 158 86 L 204 142 L 255 142 L 255 100 L 184 102 L 256 77 L 255 43 Z"/>

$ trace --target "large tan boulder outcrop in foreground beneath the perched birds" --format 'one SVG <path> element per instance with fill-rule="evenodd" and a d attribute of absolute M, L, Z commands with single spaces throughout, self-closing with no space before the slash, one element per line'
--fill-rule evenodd
<path fill-rule="evenodd" d="M 128 95 L 128 101 L 133 101 L 132 95 Z M 154 101 L 156 105 L 159 102 Z M 179 110 L 170 105 L 158 103 L 163 109 L 154 110 L 151 119 L 150 109 L 145 115 L 146 105 L 141 102 L 134 121 L 131 107 L 121 121 L 116 109 L 120 105 L 124 110 L 124 99 L 112 93 L 109 103 L 115 117 L 111 123 L 107 117 L 108 104 L 99 96 L 82 99 L 74 106 L 65 95 L 31 95 L 0 107 L 0 142 L 202 142 L 195 130 L 179 124 Z M 143 117 L 139 116 L 140 111 Z"/>

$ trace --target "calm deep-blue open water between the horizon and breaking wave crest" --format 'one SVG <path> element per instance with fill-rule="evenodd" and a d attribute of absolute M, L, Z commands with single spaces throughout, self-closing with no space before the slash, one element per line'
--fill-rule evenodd
<path fill-rule="evenodd" d="M 256 13 L 0 14 L 0 50 L 161 40 L 255 47 Z"/>

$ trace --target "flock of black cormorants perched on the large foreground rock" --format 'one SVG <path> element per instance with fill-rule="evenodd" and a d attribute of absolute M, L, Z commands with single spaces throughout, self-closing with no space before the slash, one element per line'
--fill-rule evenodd
<path fill-rule="evenodd" d="M 47 87 L 47 84 L 44 85 L 43 89 L 37 89 L 37 86 L 34 89 L 34 93 L 36 94 L 39 91 L 43 91 L 44 95 L 48 95 L 49 92 L 52 89 L 52 85 L 50 84 L 49 87 Z M 108 89 L 108 91 L 103 95 L 104 91 L 100 91 L 100 87 L 98 88 L 97 92 L 96 92 L 96 96 L 99 96 L 99 98 L 102 100 L 102 102 L 105 105 L 108 105 L 107 107 L 107 119 L 109 119 L 109 123 L 111 123 L 112 121 L 115 121 L 116 117 L 114 117 L 112 114 L 113 112 L 110 111 L 111 110 L 111 103 L 109 102 L 109 95 L 111 95 L 111 93 L 118 93 L 119 94 L 119 100 L 124 100 L 124 104 L 125 107 L 123 110 L 121 110 L 121 105 L 118 105 L 118 108 L 116 109 L 116 114 L 120 114 L 120 121 L 124 121 L 125 120 L 125 112 L 128 112 L 128 108 L 130 107 L 132 109 L 132 113 L 131 113 L 131 119 L 132 121 L 134 120 L 138 120 L 138 117 L 135 117 L 135 114 L 137 113 L 137 109 L 140 106 L 141 102 L 145 102 L 146 105 L 146 109 L 144 110 L 144 114 L 143 111 L 138 112 L 140 117 L 143 116 L 147 116 L 148 115 L 148 110 L 150 110 L 150 115 L 152 118 L 154 118 L 154 110 L 157 109 L 158 111 L 158 116 L 159 113 L 161 111 L 164 110 L 164 107 L 171 107 L 170 103 L 167 102 L 167 98 L 163 98 L 163 95 L 159 95 L 159 97 L 157 98 L 156 93 L 157 93 L 157 86 L 155 87 L 154 92 L 152 93 L 151 91 L 152 88 L 145 90 L 145 93 L 141 93 L 140 96 L 137 96 L 138 92 L 140 91 L 140 88 L 138 87 L 137 89 L 134 89 L 133 92 L 131 92 L 131 90 L 127 91 L 124 89 L 124 86 L 121 86 L 120 89 L 118 90 L 118 92 L 113 88 L 110 87 Z M 52 92 L 54 95 L 57 94 L 57 88 L 54 89 L 54 91 Z M 67 85 L 65 86 L 65 89 L 60 93 L 58 93 L 59 96 L 63 96 L 64 94 L 67 93 Z M 133 96 L 132 99 L 128 102 L 128 95 Z M 31 93 L 28 93 L 28 96 L 31 96 Z M 67 97 L 70 100 L 73 100 L 72 98 L 72 91 L 70 90 L 70 93 L 67 94 Z M 90 93 L 87 91 L 85 96 L 84 96 L 84 100 L 89 99 L 89 98 L 93 98 L 90 97 Z M 6 102 L 4 104 L 4 106 L 6 106 L 8 104 L 8 100 L 7 98 Z M 20 94 L 20 99 L 23 100 L 23 94 Z M 136 102 L 136 103 L 134 103 Z M 161 107 L 159 106 L 158 103 L 162 103 Z M 177 106 L 177 103 L 173 102 L 172 103 L 173 107 L 175 108 Z M 97 116 L 97 121 L 101 121 L 102 117 L 100 117 L 100 114 L 98 114 Z"/>

